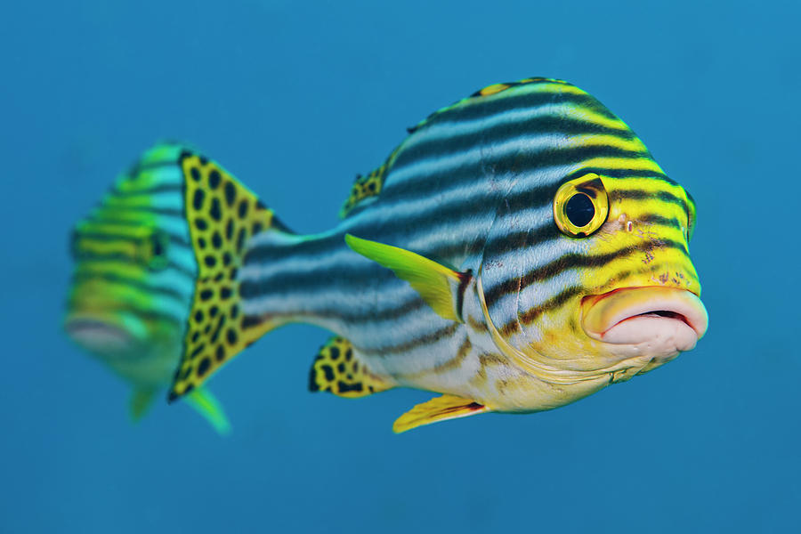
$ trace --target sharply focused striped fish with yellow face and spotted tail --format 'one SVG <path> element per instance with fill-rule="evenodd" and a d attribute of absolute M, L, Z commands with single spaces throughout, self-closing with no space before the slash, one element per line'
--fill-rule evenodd
<path fill-rule="evenodd" d="M 310 391 L 437 394 L 395 420 L 402 433 L 565 406 L 659 368 L 708 328 L 695 201 L 562 80 L 489 85 L 435 111 L 315 234 L 291 231 L 214 160 L 159 150 L 153 165 L 183 176 L 171 206 L 198 269 L 168 401 L 307 323 L 332 334 Z"/>

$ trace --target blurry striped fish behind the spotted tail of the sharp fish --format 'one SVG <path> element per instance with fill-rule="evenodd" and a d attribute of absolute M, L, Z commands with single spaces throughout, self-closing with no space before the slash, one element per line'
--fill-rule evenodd
<path fill-rule="evenodd" d="M 75 266 L 63 328 L 131 385 L 134 421 L 172 382 L 197 276 L 184 215 L 174 204 L 183 176 L 175 166 L 151 164 L 162 152 L 150 150 L 117 178 L 76 223 L 69 247 Z M 206 388 L 186 400 L 217 433 L 231 432 L 221 403 Z"/>

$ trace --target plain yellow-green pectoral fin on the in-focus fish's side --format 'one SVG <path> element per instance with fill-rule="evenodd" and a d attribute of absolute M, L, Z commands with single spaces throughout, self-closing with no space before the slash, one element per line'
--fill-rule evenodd
<path fill-rule="evenodd" d="M 425 256 L 399 247 L 360 239 L 351 234 L 345 243 L 354 252 L 392 269 L 395 275 L 409 282 L 426 303 L 441 317 L 464 322 L 461 318 L 461 299 L 469 272 L 457 272 Z"/>

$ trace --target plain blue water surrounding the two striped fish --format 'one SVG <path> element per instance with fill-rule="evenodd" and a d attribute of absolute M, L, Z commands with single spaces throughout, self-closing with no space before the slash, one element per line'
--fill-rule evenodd
<path fill-rule="evenodd" d="M 797 3 L 8 3 L 0 32 L 2 532 L 773 532 L 798 528 Z M 190 142 L 295 231 L 328 229 L 404 128 L 558 77 L 698 203 L 697 348 L 584 401 L 402 435 L 427 392 L 306 391 L 328 333 L 215 376 L 233 432 L 61 332 L 69 231 L 154 142 Z"/>

